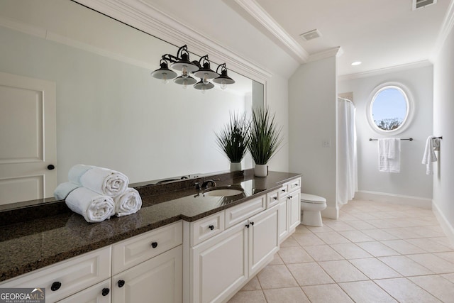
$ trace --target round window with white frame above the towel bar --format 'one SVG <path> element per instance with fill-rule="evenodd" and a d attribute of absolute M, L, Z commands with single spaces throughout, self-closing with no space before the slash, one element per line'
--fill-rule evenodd
<path fill-rule="evenodd" d="M 375 88 L 368 104 L 367 120 L 378 133 L 399 133 L 408 126 L 413 110 L 408 89 L 385 83 Z"/>

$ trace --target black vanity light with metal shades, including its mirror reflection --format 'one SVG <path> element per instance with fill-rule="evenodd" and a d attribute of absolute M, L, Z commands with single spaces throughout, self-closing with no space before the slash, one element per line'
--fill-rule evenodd
<path fill-rule="evenodd" d="M 176 72 L 169 69 L 168 62 L 172 63 L 172 69 L 181 71 L 179 77 L 177 77 Z M 151 76 L 162 79 L 162 82 L 165 84 L 169 82 L 169 79 L 175 78 L 173 82 L 182 85 L 184 89 L 186 89 L 188 85 L 194 84 L 194 89 L 199 89 L 203 93 L 207 89 L 212 89 L 214 87 L 214 84 L 210 82 L 210 79 L 213 79 L 213 82 L 216 84 L 220 84 L 221 89 L 226 89 L 227 84 L 235 83 L 235 81 L 227 75 L 226 63 L 218 65 L 216 72 L 211 70 L 210 65 L 211 62 L 209 61 L 208 55 L 200 57 L 199 61 L 189 60 L 187 45 L 183 45 L 178 49 L 177 56 L 170 54 L 162 55 L 160 68 L 152 72 Z M 221 68 L 221 74 L 218 74 L 219 68 Z M 200 78 L 200 81 L 197 82 L 196 79 L 189 75 L 190 73 L 192 73 L 194 77 Z"/>

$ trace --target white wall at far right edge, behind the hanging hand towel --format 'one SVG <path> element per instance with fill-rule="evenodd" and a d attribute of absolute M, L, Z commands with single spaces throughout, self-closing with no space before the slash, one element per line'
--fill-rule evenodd
<path fill-rule="evenodd" d="M 454 31 L 433 68 L 433 133 L 443 136 L 433 175 L 433 209 L 454 242 Z"/>

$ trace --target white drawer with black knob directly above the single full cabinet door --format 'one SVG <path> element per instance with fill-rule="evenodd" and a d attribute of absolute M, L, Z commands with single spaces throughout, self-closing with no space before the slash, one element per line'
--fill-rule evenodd
<path fill-rule="evenodd" d="M 183 243 L 183 224 L 178 221 L 112 246 L 112 275 L 138 265 Z"/>

